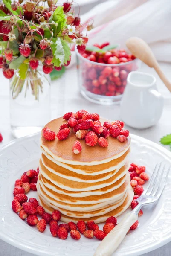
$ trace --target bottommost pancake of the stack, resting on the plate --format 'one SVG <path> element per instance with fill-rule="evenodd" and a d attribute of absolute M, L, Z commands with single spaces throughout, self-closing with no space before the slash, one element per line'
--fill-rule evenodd
<path fill-rule="evenodd" d="M 114 209 L 108 213 L 105 213 L 103 215 L 93 216 L 91 218 L 83 218 L 83 217 L 74 218 L 74 217 L 70 217 L 70 216 L 61 214 L 61 221 L 64 221 L 66 223 L 68 223 L 69 221 L 73 221 L 73 222 L 77 223 L 77 221 L 82 219 L 86 222 L 89 220 L 93 220 L 95 223 L 105 222 L 106 219 L 109 218 L 110 216 L 118 217 L 123 212 L 125 212 L 125 210 L 130 206 L 130 203 L 133 200 L 133 196 L 134 196 L 133 189 L 129 185 L 127 198 L 125 199 L 124 203 L 121 206 L 117 207 L 116 209 Z M 46 212 L 52 213 L 54 211 L 54 208 L 47 206 L 46 203 L 44 203 L 43 199 L 40 196 L 38 196 L 38 201 L 39 201 L 39 204 L 45 209 Z"/>

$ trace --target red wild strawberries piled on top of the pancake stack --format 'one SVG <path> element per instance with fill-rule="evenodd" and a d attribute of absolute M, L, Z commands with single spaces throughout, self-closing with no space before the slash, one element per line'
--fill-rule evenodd
<path fill-rule="evenodd" d="M 118 138 L 120 142 L 124 142 L 129 136 L 129 131 L 123 129 L 124 122 L 117 120 L 110 123 L 106 121 L 102 126 L 98 114 L 87 112 L 84 109 L 76 113 L 68 112 L 63 118 L 67 120 L 67 124 L 60 126 L 56 135 L 58 140 L 66 140 L 70 134 L 70 128 L 73 128 L 78 139 L 85 139 L 88 146 L 95 146 L 98 143 L 101 147 L 107 147 L 109 136 Z M 55 140 L 55 132 L 45 127 L 43 128 L 43 137 L 49 141 Z M 76 140 L 72 146 L 72 151 L 79 154 L 81 149 L 80 141 Z"/>

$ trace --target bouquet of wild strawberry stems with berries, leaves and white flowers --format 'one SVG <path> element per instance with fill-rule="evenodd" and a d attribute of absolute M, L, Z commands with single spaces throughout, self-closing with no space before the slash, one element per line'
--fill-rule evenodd
<path fill-rule="evenodd" d="M 70 64 L 70 44 L 84 53 L 87 36 L 75 15 L 72 2 L 58 5 L 58 0 L 3 0 L 0 3 L 0 67 L 12 79 L 13 97 L 23 85 L 31 87 L 35 99 L 43 84 L 40 72 L 51 73 Z M 15 72 L 16 70 L 16 72 Z"/>

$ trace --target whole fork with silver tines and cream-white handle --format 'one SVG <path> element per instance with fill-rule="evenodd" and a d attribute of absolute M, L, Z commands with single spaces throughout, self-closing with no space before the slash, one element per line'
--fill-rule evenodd
<path fill-rule="evenodd" d="M 138 205 L 125 215 L 119 224 L 108 233 L 108 235 L 101 241 L 99 247 L 96 249 L 94 256 L 111 256 L 112 253 L 117 249 L 119 244 L 123 241 L 124 237 L 128 233 L 130 227 L 137 221 L 138 213 L 142 206 L 154 204 L 162 195 L 165 183 L 168 178 L 171 166 L 168 168 L 166 175 L 165 165 L 159 163 L 155 166 L 151 180 L 147 189 L 137 199 Z"/>

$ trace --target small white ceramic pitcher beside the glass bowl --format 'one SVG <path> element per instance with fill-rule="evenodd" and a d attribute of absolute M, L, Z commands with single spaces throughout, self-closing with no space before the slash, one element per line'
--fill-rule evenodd
<path fill-rule="evenodd" d="M 121 102 L 121 118 L 126 125 L 143 129 L 155 125 L 162 115 L 163 97 L 157 91 L 156 78 L 133 71 Z"/>

